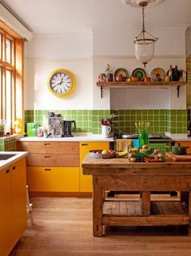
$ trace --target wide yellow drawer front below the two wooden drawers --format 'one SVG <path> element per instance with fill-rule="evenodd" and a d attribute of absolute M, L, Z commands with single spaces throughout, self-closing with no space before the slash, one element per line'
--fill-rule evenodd
<path fill-rule="evenodd" d="M 79 192 L 79 167 L 28 167 L 28 189 L 35 192 Z"/>

